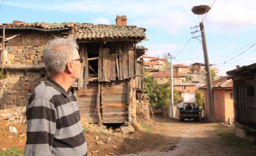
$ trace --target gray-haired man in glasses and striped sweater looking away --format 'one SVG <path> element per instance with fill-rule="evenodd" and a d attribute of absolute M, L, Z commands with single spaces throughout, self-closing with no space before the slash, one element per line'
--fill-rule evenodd
<path fill-rule="evenodd" d="M 44 62 L 47 80 L 32 92 L 26 108 L 24 156 L 87 156 L 77 100 L 68 90 L 79 78 L 83 62 L 76 41 L 49 41 Z"/>

